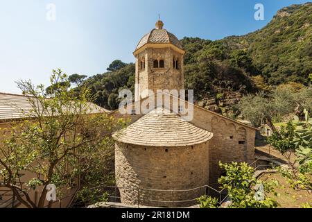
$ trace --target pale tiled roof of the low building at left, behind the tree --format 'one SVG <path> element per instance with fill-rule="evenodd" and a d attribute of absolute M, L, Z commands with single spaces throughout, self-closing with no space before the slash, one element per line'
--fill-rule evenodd
<path fill-rule="evenodd" d="M 0 92 L 0 121 L 32 117 L 33 106 L 29 96 Z M 37 106 L 40 108 L 40 105 Z M 98 105 L 89 103 L 88 114 L 109 112 Z"/>

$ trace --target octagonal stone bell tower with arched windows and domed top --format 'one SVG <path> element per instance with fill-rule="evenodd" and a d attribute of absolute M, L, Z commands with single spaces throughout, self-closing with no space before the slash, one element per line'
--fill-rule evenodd
<path fill-rule="evenodd" d="M 135 101 L 154 93 L 157 89 L 184 89 L 183 57 L 180 41 L 163 29 L 159 19 L 156 28 L 144 35 L 133 53 L 135 62 Z"/>

